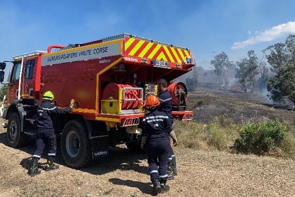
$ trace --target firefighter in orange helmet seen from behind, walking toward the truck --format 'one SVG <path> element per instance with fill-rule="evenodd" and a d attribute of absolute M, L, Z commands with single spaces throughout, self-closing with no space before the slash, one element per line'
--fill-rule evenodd
<path fill-rule="evenodd" d="M 154 194 L 165 193 L 170 189 L 166 182 L 170 153 L 169 135 L 172 131 L 172 124 L 165 112 L 158 111 L 159 105 L 159 99 L 154 95 L 149 95 L 145 104 L 148 113 L 142 122 L 141 147 L 144 149 L 147 144 L 148 168 Z"/>

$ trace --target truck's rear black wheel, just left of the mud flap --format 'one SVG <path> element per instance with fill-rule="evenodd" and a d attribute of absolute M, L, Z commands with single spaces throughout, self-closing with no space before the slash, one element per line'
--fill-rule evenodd
<path fill-rule="evenodd" d="M 91 164 L 91 141 L 83 121 L 70 120 L 65 124 L 61 134 L 60 149 L 63 160 L 71 167 L 81 168 Z"/>

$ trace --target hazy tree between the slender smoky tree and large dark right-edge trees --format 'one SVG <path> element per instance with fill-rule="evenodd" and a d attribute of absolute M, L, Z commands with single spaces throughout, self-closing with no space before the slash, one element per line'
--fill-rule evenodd
<path fill-rule="evenodd" d="M 246 93 L 247 89 L 253 93 L 258 75 L 258 58 L 253 50 L 248 51 L 248 58 L 236 62 L 236 79 L 241 84 L 241 89 Z"/>

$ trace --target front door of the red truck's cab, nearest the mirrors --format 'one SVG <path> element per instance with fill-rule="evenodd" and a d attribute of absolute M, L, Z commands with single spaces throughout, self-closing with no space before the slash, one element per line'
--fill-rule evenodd
<path fill-rule="evenodd" d="M 7 94 L 7 101 L 11 103 L 12 100 L 17 99 L 19 89 L 19 78 L 21 72 L 22 61 L 15 61 L 10 72 L 9 87 Z"/>

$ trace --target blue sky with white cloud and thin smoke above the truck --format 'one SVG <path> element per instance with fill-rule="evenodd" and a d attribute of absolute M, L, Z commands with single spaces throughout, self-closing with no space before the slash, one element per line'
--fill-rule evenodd
<path fill-rule="evenodd" d="M 209 66 L 221 51 L 234 62 L 249 50 L 263 58 L 295 33 L 295 0 L 0 0 L 0 8 L 0 61 L 131 33 L 190 48 Z"/>

